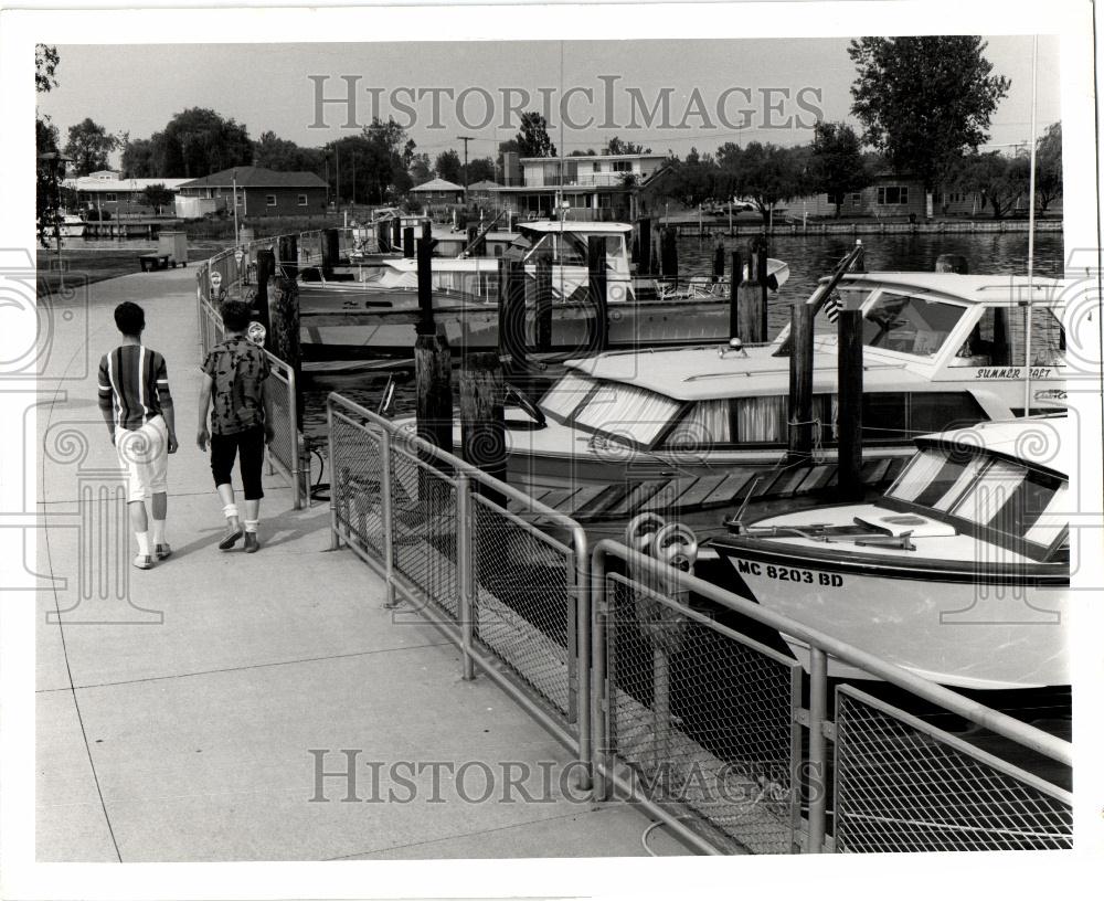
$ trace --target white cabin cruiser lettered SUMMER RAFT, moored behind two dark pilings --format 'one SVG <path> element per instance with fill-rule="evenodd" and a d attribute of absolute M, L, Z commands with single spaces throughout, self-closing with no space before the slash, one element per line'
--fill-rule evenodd
<path fill-rule="evenodd" d="M 953 273 L 842 276 L 862 310 L 864 457 L 907 457 L 913 439 L 1025 413 L 1028 279 Z M 1031 280 L 1031 412 L 1064 407 L 1066 283 Z M 813 300 L 810 300 L 813 303 Z M 818 317 L 819 318 L 819 317 Z M 827 325 L 827 322 L 825 322 Z M 789 360 L 771 343 L 609 352 L 566 363 L 509 434 L 509 476 L 567 488 L 708 471 L 777 471 L 788 449 Z M 837 444 L 837 338 L 815 338 L 814 456 Z M 520 411 L 511 417 L 523 417 Z M 457 433 L 458 434 L 458 433 Z M 679 499 L 672 498 L 672 506 Z"/>

